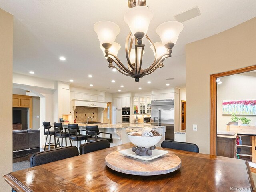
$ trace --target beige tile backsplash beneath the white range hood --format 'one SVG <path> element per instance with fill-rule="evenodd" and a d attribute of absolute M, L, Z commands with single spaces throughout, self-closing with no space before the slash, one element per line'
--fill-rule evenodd
<path fill-rule="evenodd" d="M 76 107 L 74 110 L 74 119 L 76 122 L 87 121 L 88 117 L 92 117 L 89 121 L 98 121 L 98 108 L 96 107 Z"/>

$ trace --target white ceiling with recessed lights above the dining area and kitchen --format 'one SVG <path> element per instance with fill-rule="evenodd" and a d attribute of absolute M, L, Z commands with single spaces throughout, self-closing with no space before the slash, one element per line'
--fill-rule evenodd
<path fill-rule="evenodd" d="M 147 0 L 154 12 L 148 29 L 153 42 L 160 41 L 156 27 L 173 15 L 198 6 L 201 16 L 183 22 L 181 32 L 173 48 L 172 58 L 167 58 L 164 67 L 136 83 L 133 78 L 108 68 L 99 41 L 93 30 L 100 20 L 115 22 L 120 27 L 116 42 L 121 45 L 118 57 L 126 63 L 124 44 L 129 32 L 123 15 L 128 10 L 127 0 L 84 1 L 32 1 L 1 0 L 0 7 L 14 15 L 13 72 L 52 80 L 69 82 L 106 92 L 138 92 L 169 87 L 185 87 L 185 45 L 236 26 L 256 16 L 255 0 Z M 153 61 L 153 52 L 146 44 L 144 66 Z M 60 61 L 60 56 L 66 61 Z M 145 68 L 145 67 L 144 67 Z M 89 78 L 88 74 L 93 77 Z M 195 74 L 196 75 L 196 74 Z M 175 78 L 174 80 L 166 80 Z M 112 83 L 111 80 L 116 80 Z M 151 81 L 151 84 L 147 82 Z M 93 84 L 93 87 L 89 85 Z M 124 85 L 124 88 L 120 88 Z M 112 89 L 106 89 L 111 87 Z M 138 90 L 138 87 L 142 87 Z"/>

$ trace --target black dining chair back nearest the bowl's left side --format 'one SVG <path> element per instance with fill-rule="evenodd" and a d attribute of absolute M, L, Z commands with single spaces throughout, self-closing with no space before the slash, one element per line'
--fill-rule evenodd
<path fill-rule="evenodd" d="M 86 154 L 93 151 L 109 148 L 108 140 L 99 140 L 80 145 L 80 154 Z"/>

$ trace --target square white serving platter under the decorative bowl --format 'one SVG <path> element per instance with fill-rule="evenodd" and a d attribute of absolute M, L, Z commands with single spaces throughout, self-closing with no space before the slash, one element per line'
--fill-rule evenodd
<path fill-rule="evenodd" d="M 150 156 L 140 156 L 140 155 L 136 155 L 135 152 L 132 152 L 131 148 L 130 149 L 125 149 L 125 150 L 122 150 L 122 151 L 119 151 L 119 152 L 123 155 L 133 157 L 133 158 L 136 158 L 136 159 L 140 159 L 140 160 L 144 160 L 144 161 L 149 161 L 149 160 L 158 158 L 158 157 L 168 153 L 168 151 L 155 149 L 155 150 L 152 150 L 152 155 L 150 155 Z"/>

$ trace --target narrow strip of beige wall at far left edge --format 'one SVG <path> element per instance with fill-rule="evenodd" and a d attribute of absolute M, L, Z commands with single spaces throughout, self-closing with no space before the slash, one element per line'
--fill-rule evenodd
<path fill-rule="evenodd" d="M 0 191 L 10 191 L 2 178 L 12 172 L 12 30 L 13 16 L 0 9 Z"/>

